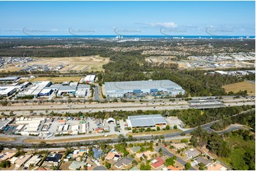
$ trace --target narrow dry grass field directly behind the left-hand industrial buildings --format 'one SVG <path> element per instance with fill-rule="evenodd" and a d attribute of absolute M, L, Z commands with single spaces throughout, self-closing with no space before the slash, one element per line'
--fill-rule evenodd
<path fill-rule="evenodd" d="M 81 78 L 81 76 L 36 77 L 31 79 L 30 81 L 51 81 L 52 83 L 62 83 L 65 81 L 79 82 Z"/>

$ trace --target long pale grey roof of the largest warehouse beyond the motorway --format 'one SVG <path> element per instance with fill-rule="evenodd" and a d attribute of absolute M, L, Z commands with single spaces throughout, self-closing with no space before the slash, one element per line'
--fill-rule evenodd
<path fill-rule="evenodd" d="M 105 88 L 106 88 L 106 91 L 140 90 L 140 89 L 155 89 L 155 88 L 182 89 L 182 87 L 177 85 L 177 83 L 174 83 L 169 80 L 106 82 Z"/>

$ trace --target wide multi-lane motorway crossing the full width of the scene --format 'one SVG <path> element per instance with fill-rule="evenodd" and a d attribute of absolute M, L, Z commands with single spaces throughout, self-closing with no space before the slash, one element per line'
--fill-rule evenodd
<path fill-rule="evenodd" d="M 17 115 L 30 115 L 30 111 L 40 114 L 46 114 L 45 110 L 57 113 L 76 113 L 76 112 L 113 112 L 115 111 L 136 111 L 136 110 L 182 110 L 182 109 L 208 109 L 218 108 L 225 106 L 243 106 L 243 105 L 255 105 L 255 101 L 247 102 L 228 102 L 221 105 L 200 105 L 191 106 L 187 101 L 178 102 L 116 102 L 116 103 L 94 103 L 94 104 L 79 104 L 79 105 L 22 105 L 22 106 L 2 106 L 0 112 L 9 114 L 11 111 Z M 92 110 L 90 110 L 92 109 Z"/>

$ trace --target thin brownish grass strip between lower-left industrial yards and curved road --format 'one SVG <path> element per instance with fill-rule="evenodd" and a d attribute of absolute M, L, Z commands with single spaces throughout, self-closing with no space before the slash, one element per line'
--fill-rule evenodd
<path fill-rule="evenodd" d="M 117 135 L 110 135 L 110 136 L 88 136 L 88 137 L 79 137 L 79 138 L 63 138 L 63 139 L 55 139 L 55 140 L 43 140 L 43 139 L 32 139 L 26 138 L 24 140 L 25 143 L 40 143 L 45 141 L 45 143 L 69 143 L 69 142 L 77 142 L 77 141 L 84 141 L 84 140 L 96 140 L 96 139 L 109 139 L 109 138 L 116 138 Z"/>

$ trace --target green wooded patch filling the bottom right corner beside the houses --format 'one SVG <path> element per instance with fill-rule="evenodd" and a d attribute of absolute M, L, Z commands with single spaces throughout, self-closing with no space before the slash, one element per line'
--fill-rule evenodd
<path fill-rule="evenodd" d="M 255 170 L 255 134 L 250 131 L 239 129 L 220 136 L 199 127 L 191 135 L 191 145 L 206 146 L 233 170 Z"/>

